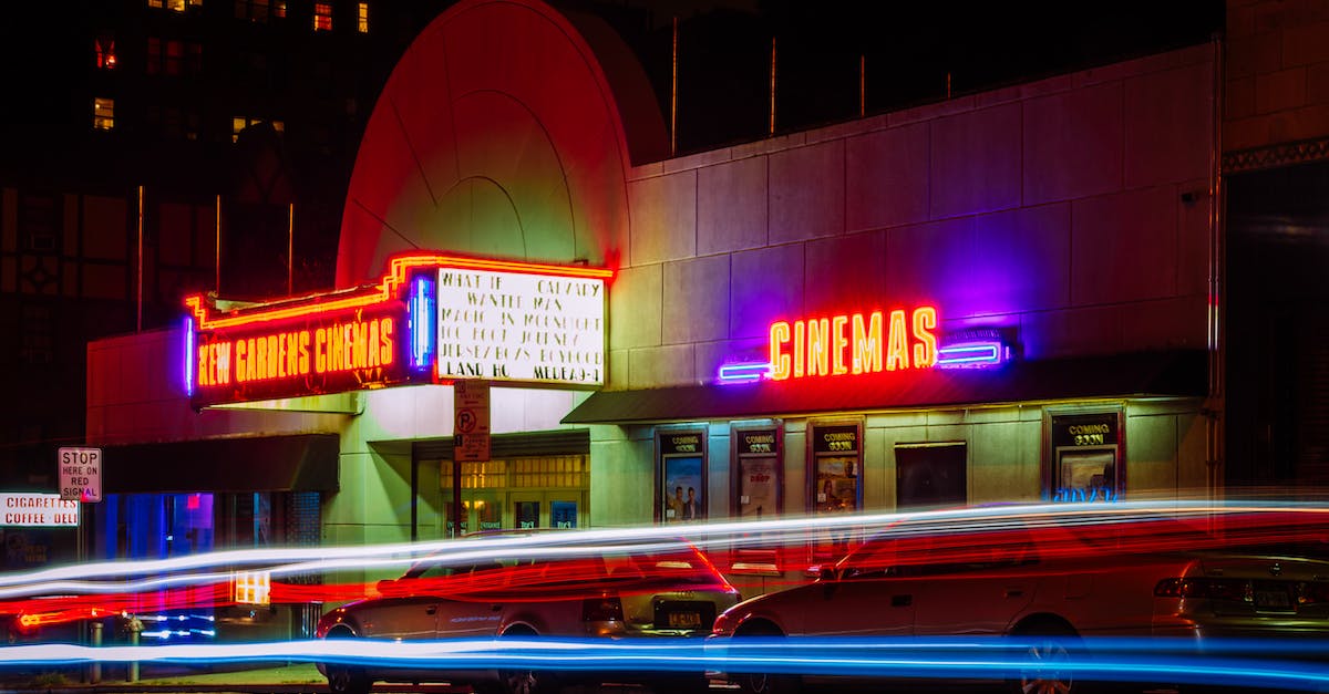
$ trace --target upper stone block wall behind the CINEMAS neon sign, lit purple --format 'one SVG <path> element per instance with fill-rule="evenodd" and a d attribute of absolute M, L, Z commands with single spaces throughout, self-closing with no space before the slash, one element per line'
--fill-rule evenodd
<path fill-rule="evenodd" d="M 867 306 L 1026 359 L 1204 348 L 1215 69 L 1199 45 L 634 168 L 609 388 Z"/>

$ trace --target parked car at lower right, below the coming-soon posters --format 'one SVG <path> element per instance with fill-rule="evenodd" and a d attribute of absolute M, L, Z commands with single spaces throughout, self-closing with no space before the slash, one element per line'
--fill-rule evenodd
<path fill-rule="evenodd" d="M 1010 641 L 1023 654 L 1019 674 L 1006 675 L 1013 690 L 1079 691 L 1083 682 L 1058 663 L 1092 658 L 1087 637 L 1200 643 L 1329 636 L 1329 561 L 1282 552 L 1325 546 L 1329 521 L 1321 516 L 1159 513 L 1088 522 L 1091 516 L 1007 511 L 961 530 L 910 519 L 867 533 L 811 584 L 730 608 L 708 647 L 732 657 L 738 649 L 727 646 L 748 637 L 1022 637 Z M 748 694 L 789 694 L 804 679 L 730 677 Z"/>

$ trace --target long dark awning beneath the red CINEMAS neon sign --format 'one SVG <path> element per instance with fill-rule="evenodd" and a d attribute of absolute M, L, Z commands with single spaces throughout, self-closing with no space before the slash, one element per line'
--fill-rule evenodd
<path fill-rule="evenodd" d="M 1136 352 L 751 384 L 601 391 L 565 424 L 747 419 L 1086 398 L 1204 396 L 1208 352 Z"/>

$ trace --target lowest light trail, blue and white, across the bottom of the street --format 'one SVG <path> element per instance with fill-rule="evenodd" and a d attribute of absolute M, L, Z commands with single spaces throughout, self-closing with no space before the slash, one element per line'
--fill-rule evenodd
<path fill-rule="evenodd" d="M 1324 658 L 1329 642 L 1298 639 L 1193 642 L 1148 638 L 1083 638 L 1066 661 L 1050 669 L 1084 681 L 1223 683 L 1318 690 L 1329 683 Z M 703 642 L 651 639 L 449 639 L 392 642 L 371 639 L 284 641 L 229 645 L 89 647 L 66 643 L 0 647 L 0 666 L 92 662 L 264 663 L 323 662 L 358 666 L 456 670 L 533 669 L 550 671 L 771 673 L 853 678 L 1007 679 L 1035 671 L 1025 659 L 1027 642 L 1015 638 L 780 638 Z M 1084 654 L 1080 654 L 1084 653 Z"/>

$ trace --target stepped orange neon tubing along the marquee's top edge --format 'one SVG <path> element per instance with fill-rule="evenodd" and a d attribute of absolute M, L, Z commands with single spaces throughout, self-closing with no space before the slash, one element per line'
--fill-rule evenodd
<path fill-rule="evenodd" d="M 388 274 L 377 285 L 351 290 L 344 296 L 315 303 L 302 303 L 299 306 L 263 306 L 255 308 L 241 308 L 234 315 L 214 316 L 203 302 L 202 294 L 185 298 L 187 306 L 198 322 L 199 331 L 223 327 L 247 326 L 250 323 L 266 323 L 268 320 L 282 320 L 286 318 L 299 318 L 312 314 L 326 314 L 344 308 L 363 308 L 392 300 L 397 287 L 407 282 L 407 275 L 417 267 L 452 267 L 459 270 L 486 270 L 492 273 L 521 273 L 528 275 L 569 277 L 579 279 L 609 279 L 614 271 L 603 267 L 565 266 L 549 263 L 528 263 L 521 261 L 492 261 L 484 258 L 465 258 L 460 255 L 441 255 L 436 253 L 420 253 L 396 255 L 389 261 Z M 330 292 L 328 296 L 336 292 Z M 300 296 L 310 299 L 310 296 Z"/>

